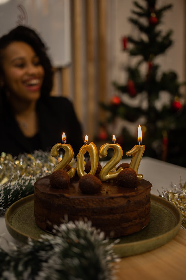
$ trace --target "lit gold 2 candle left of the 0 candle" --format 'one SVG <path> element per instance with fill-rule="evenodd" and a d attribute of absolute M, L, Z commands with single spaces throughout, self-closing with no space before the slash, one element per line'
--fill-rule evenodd
<path fill-rule="evenodd" d="M 65 153 L 64 156 L 62 157 L 62 160 L 56 165 L 56 167 L 54 168 L 54 171 L 58 170 L 58 169 L 64 169 L 73 159 L 74 156 L 74 151 L 71 145 L 66 144 L 66 135 L 63 132 L 62 135 L 62 142 L 64 144 L 61 143 L 57 143 L 55 144 L 51 151 L 50 154 L 52 157 L 57 157 L 58 153 L 59 153 L 59 149 L 63 148 Z M 72 167 L 68 172 L 67 172 L 70 176 L 70 178 L 73 178 L 76 174 L 76 169 L 74 167 Z"/>

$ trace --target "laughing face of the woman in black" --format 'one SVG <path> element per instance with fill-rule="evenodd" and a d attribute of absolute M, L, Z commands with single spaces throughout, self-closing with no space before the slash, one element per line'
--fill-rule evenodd
<path fill-rule="evenodd" d="M 24 42 L 12 42 L 2 53 L 4 81 L 11 92 L 11 99 L 37 100 L 40 97 L 44 68 L 33 48 Z"/>

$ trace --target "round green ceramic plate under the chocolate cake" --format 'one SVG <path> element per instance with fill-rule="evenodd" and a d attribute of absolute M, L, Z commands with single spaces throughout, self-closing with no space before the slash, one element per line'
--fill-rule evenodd
<path fill-rule="evenodd" d="M 178 233 L 181 218 L 177 207 L 161 197 L 151 195 L 150 222 L 140 232 L 121 237 L 120 242 L 114 245 L 115 253 L 121 257 L 131 256 L 166 244 Z M 38 240 L 41 234 L 47 234 L 35 223 L 34 195 L 12 204 L 6 211 L 5 221 L 9 233 L 21 242 L 26 243 L 28 237 Z"/>

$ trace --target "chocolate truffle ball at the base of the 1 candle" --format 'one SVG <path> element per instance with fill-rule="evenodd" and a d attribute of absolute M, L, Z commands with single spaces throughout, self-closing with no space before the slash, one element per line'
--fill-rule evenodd
<path fill-rule="evenodd" d="M 138 184 L 136 171 L 132 168 L 125 168 L 119 172 L 116 184 L 124 188 L 136 188 Z"/>

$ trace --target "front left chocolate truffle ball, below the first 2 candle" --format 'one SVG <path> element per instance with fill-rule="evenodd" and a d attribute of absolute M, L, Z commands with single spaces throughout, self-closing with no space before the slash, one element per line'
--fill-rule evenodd
<path fill-rule="evenodd" d="M 70 183 L 69 174 L 63 169 L 58 169 L 50 174 L 50 187 L 54 189 L 66 189 Z"/>

